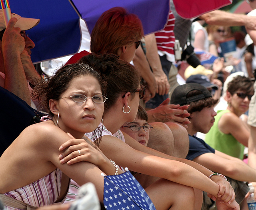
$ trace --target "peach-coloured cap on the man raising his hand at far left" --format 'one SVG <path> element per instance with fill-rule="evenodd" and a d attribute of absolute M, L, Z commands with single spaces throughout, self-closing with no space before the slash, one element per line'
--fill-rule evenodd
<path fill-rule="evenodd" d="M 20 28 L 22 31 L 29 30 L 30 28 L 33 28 L 36 26 L 40 19 L 34 19 L 34 18 L 22 18 L 18 14 L 12 13 L 12 18 L 17 18 L 17 22 L 15 24 L 15 27 Z M 0 31 L 4 30 L 6 28 L 4 23 L 4 14 L 3 10 L 0 10 Z"/>

